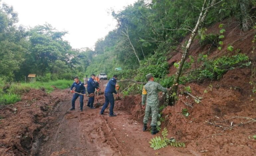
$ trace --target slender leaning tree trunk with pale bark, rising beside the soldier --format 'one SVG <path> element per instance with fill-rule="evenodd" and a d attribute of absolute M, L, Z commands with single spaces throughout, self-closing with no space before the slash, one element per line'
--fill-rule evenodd
<path fill-rule="evenodd" d="M 195 25 L 195 27 L 192 31 L 192 34 L 191 34 L 190 39 L 187 43 L 186 49 L 183 52 L 179 68 L 177 69 L 177 72 L 175 74 L 174 85 L 173 85 L 173 93 L 176 93 L 176 95 L 177 95 L 177 91 L 178 91 L 178 83 L 179 83 L 179 79 L 180 79 L 180 76 L 181 76 L 181 73 L 182 73 L 183 65 L 184 65 L 184 62 L 185 62 L 185 60 L 187 59 L 187 57 L 189 55 L 189 50 L 190 50 L 190 47 L 191 47 L 192 42 L 194 40 L 195 34 L 197 33 L 198 28 L 201 25 L 201 23 L 204 22 L 205 17 L 206 17 L 206 15 L 207 15 L 207 13 L 210 9 L 210 6 L 213 6 L 215 4 L 215 2 L 216 2 L 216 0 L 212 0 L 212 1 L 209 0 L 209 3 L 208 3 L 209 5 L 208 5 L 207 8 L 205 8 L 206 0 L 204 0 L 202 10 L 201 10 L 200 15 L 198 17 L 197 23 L 196 23 L 196 25 Z"/>

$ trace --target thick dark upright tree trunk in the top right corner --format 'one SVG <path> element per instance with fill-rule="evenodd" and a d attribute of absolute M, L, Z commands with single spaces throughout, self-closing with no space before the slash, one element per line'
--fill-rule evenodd
<path fill-rule="evenodd" d="M 240 4 L 240 12 L 241 12 L 241 22 L 242 22 L 242 30 L 243 32 L 247 32 L 250 30 L 250 0 L 239 0 Z"/>

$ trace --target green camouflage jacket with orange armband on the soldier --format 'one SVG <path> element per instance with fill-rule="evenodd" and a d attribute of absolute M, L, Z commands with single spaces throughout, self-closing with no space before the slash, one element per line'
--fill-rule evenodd
<path fill-rule="evenodd" d="M 162 87 L 159 83 L 154 81 L 149 81 L 144 87 L 142 91 L 142 105 L 145 105 L 147 99 L 148 106 L 158 106 L 158 92 L 163 91 L 167 92 L 167 89 Z"/>

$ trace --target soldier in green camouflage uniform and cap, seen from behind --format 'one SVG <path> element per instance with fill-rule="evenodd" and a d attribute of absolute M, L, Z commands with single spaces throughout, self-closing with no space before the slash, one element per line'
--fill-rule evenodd
<path fill-rule="evenodd" d="M 152 121 L 151 121 L 151 134 L 156 134 L 158 130 L 156 129 L 157 124 L 157 117 L 159 113 L 159 100 L 158 100 L 158 92 L 167 92 L 167 88 L 162 87 L 159 83 L 154 82 L 154 77 L 152 74 L 146 75 L 148 79 L 148 83 L 143 87 L 142 91 L 142 108 L 145 108 L 145 101 L 147 99 L 147 105 L 145 110 L 145 116 L 143 119 L 144 127 L 143 131 L 147 130 L 147 122 L 152 114 Z"/>

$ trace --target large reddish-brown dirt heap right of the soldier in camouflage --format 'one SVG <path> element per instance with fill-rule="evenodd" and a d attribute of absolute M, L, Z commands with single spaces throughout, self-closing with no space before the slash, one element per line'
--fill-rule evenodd
<path fill-rule="evenodd" d="M 250 97 L 249 76 L 248 69 L 234 69 L 221 81 L 212 82 L 210 88 L 207 80 L 187 84 L 192 95 L 202 97 L 201 103 L 190 96 L 180 96 L 175 106 L 164 109 L 164 126 L 175 138 L 186 142 L 188 148 L 205 151 L 207 155 L 254 155 L 256 141 L 252 135 L 256 134 L 256 124 L 252 120 L 256 117 L 256 106 L 251 101 L 255 97 Z M 182 115 L 185 108 L 187 118 Z"/>

